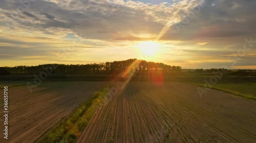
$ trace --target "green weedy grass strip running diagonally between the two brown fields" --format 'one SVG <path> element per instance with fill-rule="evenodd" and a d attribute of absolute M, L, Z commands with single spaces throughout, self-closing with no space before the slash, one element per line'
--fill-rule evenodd
<path fill-rule="evenodd" d="M 102 92 L 95 92 L 91 98 L 82 103 L 69 117 L 63 119 L 39 142 L 75 142 L 100 107 L 100 102 L 106 92 L 106 89 Z"/>

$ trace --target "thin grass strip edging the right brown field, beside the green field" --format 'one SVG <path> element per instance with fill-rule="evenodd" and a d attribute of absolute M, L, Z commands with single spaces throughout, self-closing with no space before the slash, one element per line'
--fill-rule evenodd
<path fill-rule="evenodd" d="M 198 86 L 204 87 L 204 88 L 209 88 L 209 89 L 215 89 L 215 90 L 223 91 L 223 92 L 230 93 L 230 94 L 242 97 L 242 98 L 252 99 L 252 100 L 256 101 L 256 96 L 253 96 L 253 95 L 250 95 L 250 94 L 243 94 L 243 93 L 240 93 L 238 91 L 228 90 L 228 89 L 224 89 L 224 88 L 217 88 L 217 87 L 214 87 L 214 85 L 212 85 L 212 87 L 210 87 L 209 85 L 203 84 L 203 83 L 195 83 L 195 82 L 187 82 L 187 83 L 198 85 Z"/>

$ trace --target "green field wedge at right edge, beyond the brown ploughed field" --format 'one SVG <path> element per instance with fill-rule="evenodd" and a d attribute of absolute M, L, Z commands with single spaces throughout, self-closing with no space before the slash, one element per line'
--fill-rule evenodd
<path fill-rule="evenodd" d="M 204 83 L 197 82 L 188 82 L 190 84 L 199 85 L 204 87 Z M 206 88 L 216 89 L 220 91 L 224 91 L 227 93 L 231 93 L 234 95 L 241 96 L 243 98 L 249 98 L 256 100 L 256 82 L 240 82 L 240 83 L 232 83 L 232 82 L 220 82 L 216 84 L 212 84 L 212 87 L 206 85 Z"/>

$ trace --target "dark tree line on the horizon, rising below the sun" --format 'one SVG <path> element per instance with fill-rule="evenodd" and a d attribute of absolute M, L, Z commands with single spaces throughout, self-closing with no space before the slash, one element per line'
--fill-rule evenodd
<path fill-rule="evenodd" d="M 117 74 L 125 70 L 140 70 L 141 72 L 180 72 L 180 66 L 170 66 L 163 63 L 146 62 L 129 59 L 125 61 L 105 62 L 86 65 L 45 64 L 38 66 L 2 67 L 0 74 L 38 74 L 48 70 L 53 74 Z"/>

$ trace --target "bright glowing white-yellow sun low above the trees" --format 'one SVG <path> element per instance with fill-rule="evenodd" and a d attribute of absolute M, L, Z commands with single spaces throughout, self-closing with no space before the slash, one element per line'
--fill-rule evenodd
<path fill-rule="evenodd" d="M 143 41 L 139 43 L 140 52 L 142 55 L 153 56 L 157 53 L 160 44 L 155 41 Z"/>

